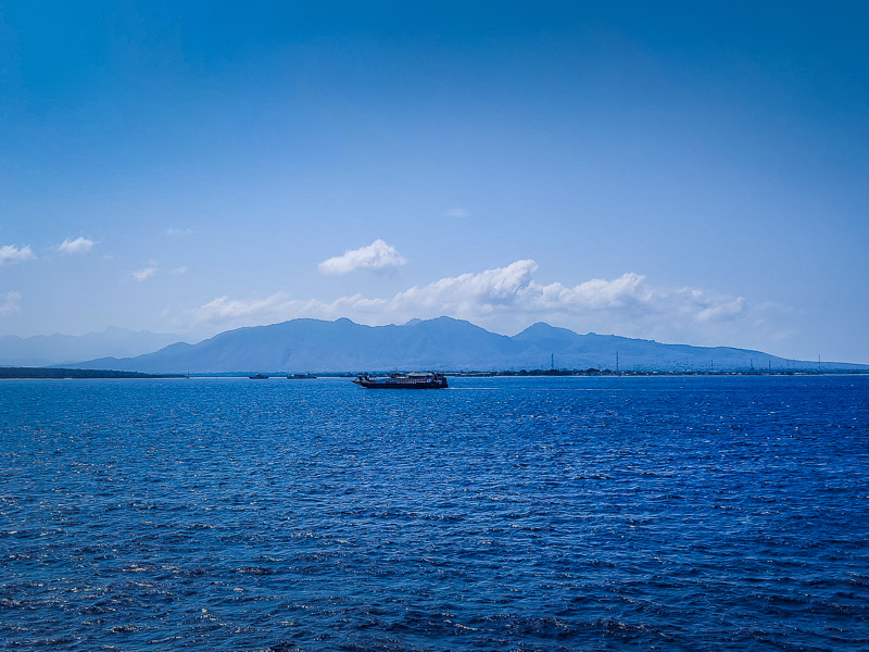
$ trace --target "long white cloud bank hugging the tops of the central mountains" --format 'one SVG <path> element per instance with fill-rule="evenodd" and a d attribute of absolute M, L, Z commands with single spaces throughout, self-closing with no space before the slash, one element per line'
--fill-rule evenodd
<path fill-rule="evenodd" d="M 387 298 L 352 294 L 322 301 L 294 299 L 286 292 L 257 299 L 218 297 L 186 316 L 192 327 L 229 328 L 295 317 L 345 316 L 380 325 L 449 315 L 505 335 L 544 321 L 579 333 L 701 344 L 742 342 L 735 346 L 759 346 L 789 335 L 780 327 L 784 309 L 773 303 L 752 306 L 743 297 L 655 286 L 635 273 L 572 286 L 541 284 L 534 280 L 537 271 L 534 261 L 519 260 Z"/>

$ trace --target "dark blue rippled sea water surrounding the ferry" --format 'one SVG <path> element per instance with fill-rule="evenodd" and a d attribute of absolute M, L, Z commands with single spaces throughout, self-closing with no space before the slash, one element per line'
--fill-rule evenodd
<path fill-rule="evenodd" d="M 452 383 L 0 381 L 0 649 L 869 649 L 869 377 Z"/>

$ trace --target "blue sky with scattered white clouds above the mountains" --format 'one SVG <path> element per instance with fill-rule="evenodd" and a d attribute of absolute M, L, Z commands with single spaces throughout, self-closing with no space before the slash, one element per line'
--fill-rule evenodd
<path fill-rule="evenodd" d="M 864 2 L 0 0 L 0 335 L 869 363 Z"/>

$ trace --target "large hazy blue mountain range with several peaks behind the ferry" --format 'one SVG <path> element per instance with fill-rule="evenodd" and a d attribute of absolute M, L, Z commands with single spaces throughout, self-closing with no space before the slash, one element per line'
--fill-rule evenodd
<path fill-rule="evenodd" d="M 617 362 L 618 358 L 618 362 Z M 238 328 L 197 344 L 173 343 L 136 358 L 102 358 L 79 368 L 146 373 L 362 372 L 387 369 L 491 371 L 550 368 L 621 371 L 818 369 L 730 347 L 664 344 L 593 333 L 579 335 L 538 323 L 513 337 L 451 317 L 396 326 L 292 319 Z M 824 363 L 823 368 L 869 371 L 869 365 Z"/>

